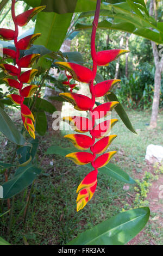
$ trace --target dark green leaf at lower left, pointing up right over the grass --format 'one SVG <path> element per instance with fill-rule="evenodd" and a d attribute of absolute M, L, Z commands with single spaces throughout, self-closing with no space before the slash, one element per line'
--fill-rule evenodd
<path fill-rule="evenodd" d="M 11 198 L 21 192 L 24 188 L 32 184 L 33 180 L 39 175 L 41 169 L 30 164 L 26 167 L 20 167 L 14 175 L 14 178 L 5 182 L 3 187 L 3 198 Z"/>

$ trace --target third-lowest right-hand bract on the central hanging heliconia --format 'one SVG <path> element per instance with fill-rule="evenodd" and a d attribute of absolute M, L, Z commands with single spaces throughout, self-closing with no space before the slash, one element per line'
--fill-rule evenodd
<path fill-rule="evenodd" d="M 105 120 L 102 123 L 93 127 L 92 131 L 90 131 L 91 135 L 95 138 L 102 138 L 109 133 L 112 126 L 117 123 L 118 119 L 109 119 Z"/>

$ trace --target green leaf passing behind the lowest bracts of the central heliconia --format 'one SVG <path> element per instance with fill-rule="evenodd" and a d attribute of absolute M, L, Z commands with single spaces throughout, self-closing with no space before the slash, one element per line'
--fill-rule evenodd
<path fill-rule="evenodd" d="M 52 146 L 47 149 L 46 155 L 51 155 L 51 154 L 57 154 L 60 156 L 66 156 L 69 153 L 72 152 L 77 152 L 78 150 L 75 148 L 60 148 L 58 146 Z M 92 168 L 91 164 L 86 164 L 86 167 Z M 132 179 L 127 173 L 123 172 L 123 170 L 116 166 L 113 163 L 108 163 L 106 166 L 99 168 L 99 172 L 104 173 L 111 178 L 114 178 L 116 180 L 129 183 L 129 184 L 134 184 L 135 180 Z"/>

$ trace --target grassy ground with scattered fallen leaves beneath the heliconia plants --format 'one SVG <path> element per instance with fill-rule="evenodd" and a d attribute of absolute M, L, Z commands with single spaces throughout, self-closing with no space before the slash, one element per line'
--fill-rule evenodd
<path fill-rule="evenodd" d="M 158 127 L 154 131 L 148 130 L 150 120 L 149 111 L 128 111 L 131 123 L 138 135 L 134 135 L 119 121 L 112 129 L 117 138 L 109 150 L 117 150 L 116 156 L 111 160 L 116 163 L 132 178 L 141 181 L 141 189 L 135 185 L 124 186 L 120 181 L 108 178 L 104 174 L 98 175 L 98 187 L 91 202 L 79 212 L 76 212 L 76 188 L 87 174 L 86 166 L 76 166 L 72 161 L 57 155 L 48 155 L 42 162 L 42 173 L 35 181 L 32 202 L 28 211 L 26 223 L 23 223 L 23 208 L 26 205 L 28 190 L 23 191 L 15 198 L 14 224 L 10 235 L 8 234 L 9 216 L 4 215 L 0 223 L 0 236 L 14 245 L 29 243 L 30 245 L 64 245 L 83 230 L 106 220 L 120 211 L 150 205 L 145 197 L 149 187 L 155 181 L 153 168 L 145 161 L 148 144 L 163 145 L 163 113 L 159 113 Z M 112 118 L 117 117 L 112 113 Z M 1 135 L 1 144 L 4 137 Z M 2 144 L 2 146 L 3 146 Z M 43 154 L 51 145 L 72 147 L 62 136 L 40 137 L 37 160 L 40 162 Z M 11 160 L 13 145 L 8 142 L 1 147 L 1 159 L 4 162 Z M 151 171 L 152 170 L 152 171 Z M 146 172 L 152 173 L 153 176 Z M 157 174 L 162 176 L 162 174 Z M 1 183 L 4 181 L 0 176 Z M 25 200 L 24 200 L 25 199 Z M 4 211 L 7 202 L 4 202 Z M 162 217 L 162 216 L 161 216 Z M 151 218 L 143 229 L 143 238 L 136 244 L 163 243 L 161 225 L 158 222 L 157 212 L 152 212 Z"/>

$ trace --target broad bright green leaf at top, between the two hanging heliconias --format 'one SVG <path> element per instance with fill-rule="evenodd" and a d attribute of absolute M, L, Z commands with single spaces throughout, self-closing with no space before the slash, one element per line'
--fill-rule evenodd
<path fill-rule="evenodd" d="M 70 27 L 72 14 L 39 13 L 35 33 L 41 33 L 35 44 L 43 45 L 48 50 L 58 51 Z"/>

